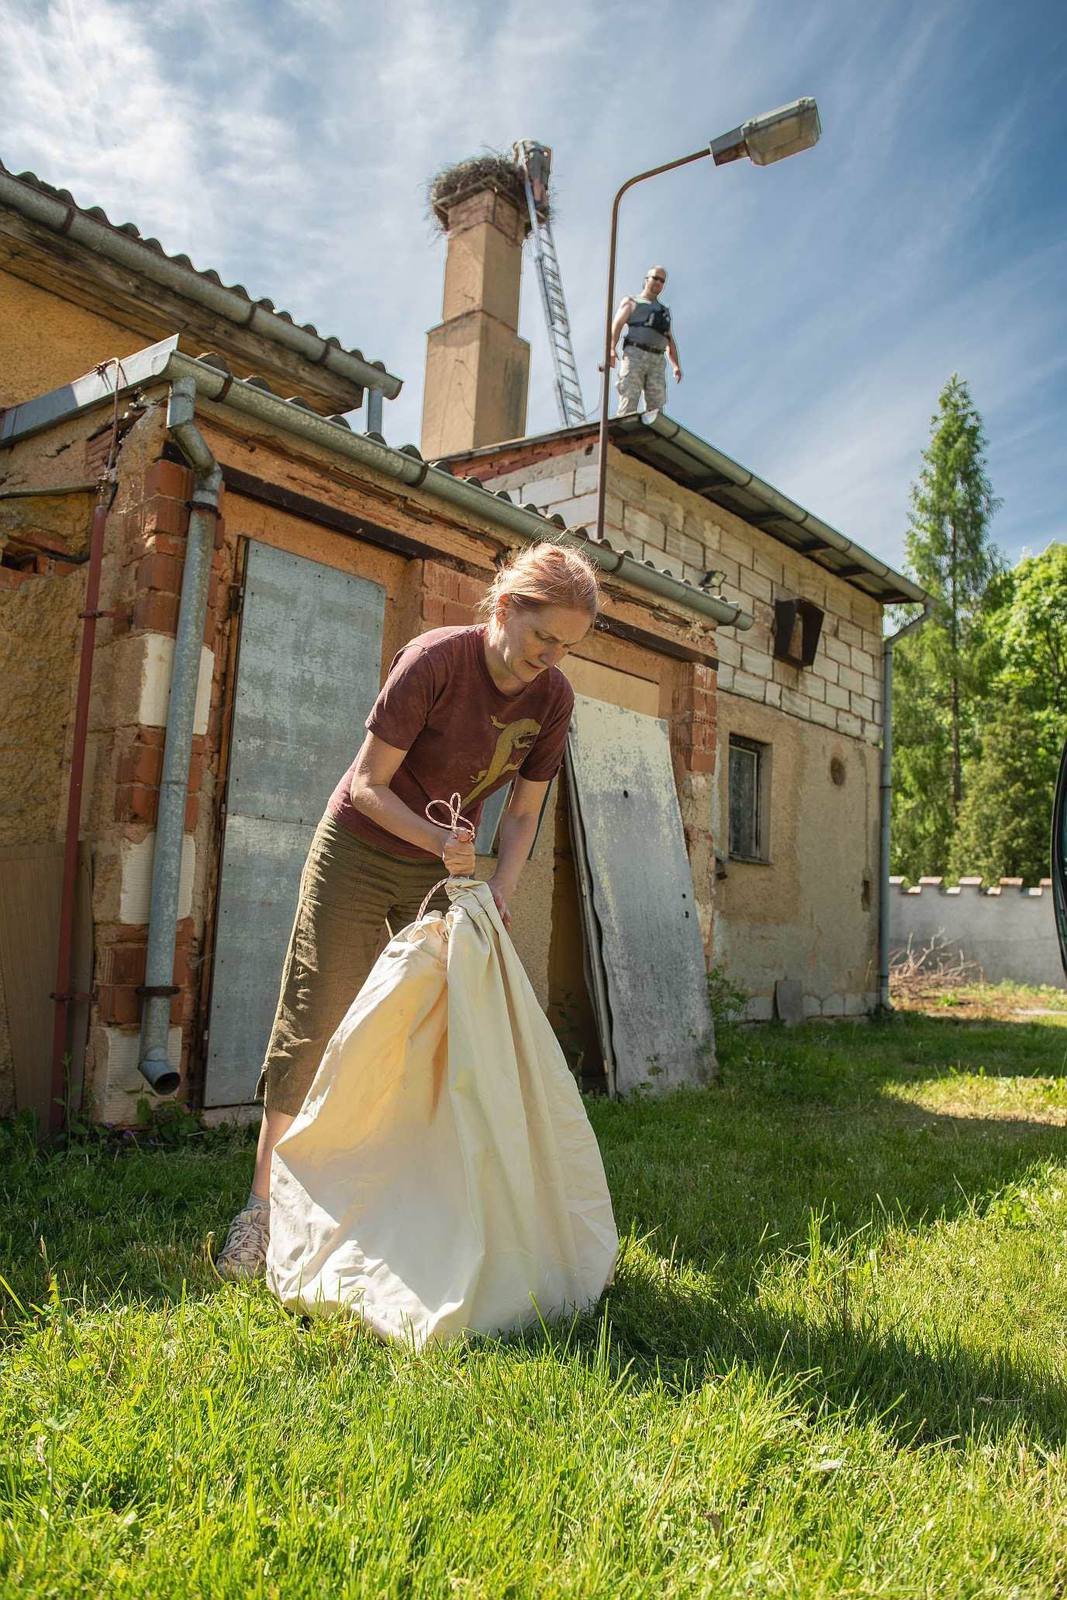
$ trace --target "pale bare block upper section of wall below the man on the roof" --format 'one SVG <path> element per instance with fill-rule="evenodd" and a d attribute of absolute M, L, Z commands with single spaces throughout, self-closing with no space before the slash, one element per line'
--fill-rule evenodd
<path fill-rule="evenodd" d="M 597 520 L 597 462 L 584 450 L 517 467 L 486 485 L 561 515 L 568 528 Z M 741 602 L 755 622 L 744 634 L 717 630 L 721 690 L 849 739 L 881 739 L 881 608 L 870 595 L 621 453 L 611 458 L 605 534 L 616 549 L 693 584 L 710 568 L 725 574 L 723 595 Z M 774 659 L 774 600 L 785 598 L 813 600 L 824 611 L 811 667 Z"/>

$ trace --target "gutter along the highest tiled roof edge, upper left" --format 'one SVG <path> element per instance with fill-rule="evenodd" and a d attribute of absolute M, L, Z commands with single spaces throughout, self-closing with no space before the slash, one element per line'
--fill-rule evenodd
<path fill-rule="evenodd" d="M 195 267 L 182 266 L 170 256 L 157 254 L 139 238 L 123 234 L 122 229 L 98 222 L 75 205 L 69 205 L 54 195 L 11 178 L 0 170 L 0 203 L 21 211 L 34 222 L 42 222 L 54 234 L 64 234 L 77 243 L 85 245 L 98 256 L 136 272 L 141 278 L 152 278 L 165 288 L 197 301 L 218 317 L 250 328 L 272 344 L 280 344 L 294 355 L 302 357 L 315 366 L 325 366 L 328 373 L 358 384 L 362 389 L 379 389 L 387 400 L 395 400 L 403 381 L 387 373 L 384 366 L 363 360 L 352 350 L 346 350 L 336 339 L 323 339 L 318 333 L 286 322 L 275 312 L 259 306 L 246 294 L 229 290 L 222 283 L 213 283 L 210 277 L 197 272 Z"/>

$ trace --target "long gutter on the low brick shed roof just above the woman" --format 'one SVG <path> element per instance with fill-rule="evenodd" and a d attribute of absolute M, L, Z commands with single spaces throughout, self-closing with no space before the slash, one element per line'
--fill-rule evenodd
<path fill-rule="evenodd" d="M 234 378 L 218 366 L 184 355 L 178 349 L 176 336 L 125 357 L 122 365 L 125 389 L 141 389 L 152 382 L 173 384 L 184 379 L 203 400 L 214 400 L 261 422 L 280 427 L 286 434 L 294 434 L 322 450 L 346 456 L 362 467 L 403 483 L 406 488 L 422 490 L 466 515 L 507 528 L 523 539 L 544 539 L 547 530 L 560 530 L 552 538 L 581 549 L 606 574 L 621 578 L 624 582 L 633 584 L 635 589 L 649 590 L 688 611 L 707 616 L 718 626 L 742 630 L 752 627 L 752 613 L 745 611 L 744 606 L 694 589 L 693 584 L 683 582 L 672 573 L 657 570 L 651 562 L 638 562 L 606 544 L 597 544 L 582 534 L 569 533 L 561 528 L 561 523 L 542 517 L 536 507 L 512 504 L 506 491 L 496 494 L 477 478 L 456 478 L 443 467 L 434 467 L 424 461 L 414 445 L 394 450 L 379 437 L 355 434 L 344 422 L 330 421 L 330 418 L 306 410 L 302 405 L 280 400 L 258 382 Z M 69 418 L 112 397 L 109 379 L 98 373 L 88 373 L 74 384 L 5 411 L 0 416 L 0 445 L 24 438 L 51 426 L 59 418 Z"/>

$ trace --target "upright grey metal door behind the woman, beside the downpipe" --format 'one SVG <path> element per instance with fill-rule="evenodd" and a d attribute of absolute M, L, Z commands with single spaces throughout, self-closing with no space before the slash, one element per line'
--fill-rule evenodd
<path fill-rule="evenodd" d="M 386 590 L 250 542 L 205 1106 L 251 1101 L 315 824 L 381 678 Z"/>

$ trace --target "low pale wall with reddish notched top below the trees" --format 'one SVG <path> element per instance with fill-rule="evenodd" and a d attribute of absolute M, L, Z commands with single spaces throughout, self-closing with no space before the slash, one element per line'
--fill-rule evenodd
<path fill-rule="evenodd" d="M 913 952 L 944 942 L 981 968 L 985 982 L 1051 984 L 1067 987 L 1059 958 L 1051 880 L 1033 888 L 1021 878 L 1001 878 L 982 888 L 981 878 L 920 878 L 904 888 L 891 878 L 889 947 Z"/>

